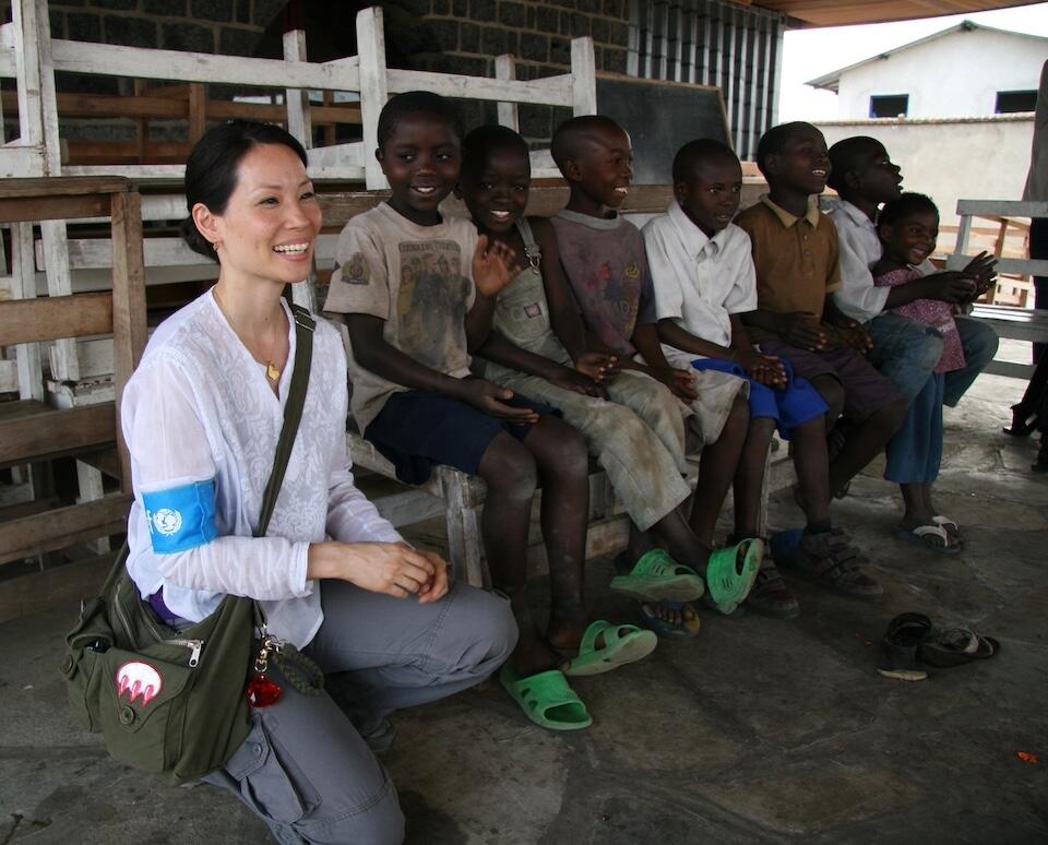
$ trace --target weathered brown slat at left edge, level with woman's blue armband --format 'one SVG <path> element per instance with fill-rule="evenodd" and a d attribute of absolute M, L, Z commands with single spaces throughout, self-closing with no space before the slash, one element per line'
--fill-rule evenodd
<path fill-rule="evenodd" d="M 127 531 L 132 501 L 119 493 L 0 523 L 0 564 Z"/>

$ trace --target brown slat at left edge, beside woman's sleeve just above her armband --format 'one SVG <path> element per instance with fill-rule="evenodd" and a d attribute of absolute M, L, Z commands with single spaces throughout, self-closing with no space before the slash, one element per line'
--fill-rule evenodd
<path fill-rule="evenodd" d="M 52 408 L 41 402 L 0 403 L 0 465 L 100 447 L 116 439 L 111 402 Z"/>

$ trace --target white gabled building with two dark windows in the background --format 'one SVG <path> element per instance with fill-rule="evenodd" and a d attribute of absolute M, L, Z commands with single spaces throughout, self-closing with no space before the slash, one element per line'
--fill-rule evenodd
<path fill-rule="evenodd" d="M 838 120 L 1033 111 L 1048 38 L 962 21 L 811 80 L 837 94 Z"/>

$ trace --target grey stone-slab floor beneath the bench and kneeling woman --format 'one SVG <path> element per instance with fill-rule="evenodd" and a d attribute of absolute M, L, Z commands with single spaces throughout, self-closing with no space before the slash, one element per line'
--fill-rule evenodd
<path fill-rule="evenodd" d="M 890 536 L 897 499 L 878 467 L 835 505 L 883 603 L 790 582 L 794 621 L 705 612 L 693 642 L 574 681 L 594 716 L 576 734 L 532 725 L 497 683 L 401 714 L 386 762 L 408 841 L 1048 842 L 1048 477 L 1028 472 L 1034 441 L 1000 433 L 1022 389 L 984 377 L 948 413 L 939 502 L 965 529 L 962 555 Z M 798 520 L 789 495 L 775 497 L 773 526 Z M 609 576 L 592 564 L 596 609 L 627 619 Z M 992 634 L 1001 654 L 919 683 L 884 679 L 874 643 L 904 610 Z M 0 845 L 266 841 L 225 795 L 159 786 L 73 727 L 55 668 L 73 612 L 0 626 Z"/>

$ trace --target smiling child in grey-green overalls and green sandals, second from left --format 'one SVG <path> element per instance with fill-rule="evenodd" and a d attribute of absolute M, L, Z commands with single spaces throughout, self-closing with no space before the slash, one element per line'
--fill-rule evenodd
<path fill-rule="evenodd" d="M 466 138 L 461 194 L 480 231 L 524 253 L 528 263 L 490 302 L 495 331 L 478 350 L 484 376 L 548 402 L 582 431 L 638 528 L 651 529 L 676 561 L 695 566 L 714 602 L 730 612 L 745 597 L 739 591 L 749 588 L 734 578 L 740 549 L 707 559 L 678 511 L 690 490 L 664 442 L 670 426 L 681 425 L 679 403 L 657 381 L 619 370 L 614 356 L 587 350 L 550 222 L 524 216 L 529 180 L 527 144 L 516 132 L 481 127 Z M 653 630 L 688 636 L 699 619 L 680 603 L 698 598 L 703 586 L 676 561 L 657 550 L 640 556 L 612 588 L 642 602 Z"/>

